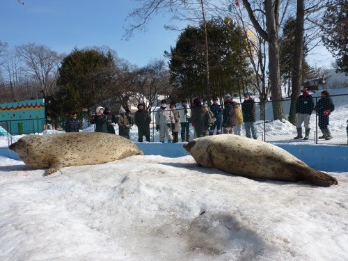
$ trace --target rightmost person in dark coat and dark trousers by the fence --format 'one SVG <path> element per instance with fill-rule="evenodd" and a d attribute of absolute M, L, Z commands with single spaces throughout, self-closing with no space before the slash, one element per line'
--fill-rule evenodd
<path fill-rule="evenodd" d="M 318 126 L 322 131 L 323 135 L 319 137 L 319 139 L 332 139 L 329 126 L 329 116 L 331 112 L 335 109 L 335 105 L 333 104 L 330 93 L 327 90 L 322 91 L 322 98 L 317 102 L 317 106 L 315 106 L 315 111 L 317 111 L 318 115 Z"/>

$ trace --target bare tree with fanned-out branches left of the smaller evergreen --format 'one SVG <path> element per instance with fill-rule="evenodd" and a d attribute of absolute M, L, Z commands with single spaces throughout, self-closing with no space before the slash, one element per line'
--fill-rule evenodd
<path fill-rule="evenodd" d="M 15 49 L 26 65 L 24 71 L 38 82 L 38 92 L 43 97 L 52 95 L 56 86 L 56 72 L 63 56 L 45 45 L 35 43 L 19 45 Z"/>

